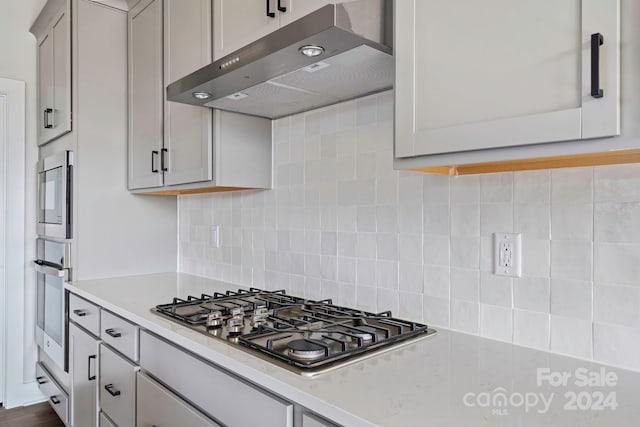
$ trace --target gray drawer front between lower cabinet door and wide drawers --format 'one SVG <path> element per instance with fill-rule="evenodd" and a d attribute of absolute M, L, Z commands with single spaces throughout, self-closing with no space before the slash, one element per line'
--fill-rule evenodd
<path fill-rule="evenodd" d="M 118 427 L 133 427 L 136 421 L 136 366 L 100 345 L 100 409 Z"/>

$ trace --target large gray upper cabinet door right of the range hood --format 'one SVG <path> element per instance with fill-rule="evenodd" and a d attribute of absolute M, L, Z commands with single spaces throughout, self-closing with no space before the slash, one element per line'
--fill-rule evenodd
<path fill-rule="evenodd" d="M 409 0 L 395 22 L 396 157 L 619 134 L 619 0 Z"/>

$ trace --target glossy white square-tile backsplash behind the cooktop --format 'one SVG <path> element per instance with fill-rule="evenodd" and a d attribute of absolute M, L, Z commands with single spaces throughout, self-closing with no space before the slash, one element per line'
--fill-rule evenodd
<path fill-rule="evenodd" d="M 179 197 L 180 270 L 640 370 L 640 165 L 398 172 L 392 116 L 384 93 L 278 120 L 273 190 Z M 493 275 L 495 232 L 523 277 Z"/>

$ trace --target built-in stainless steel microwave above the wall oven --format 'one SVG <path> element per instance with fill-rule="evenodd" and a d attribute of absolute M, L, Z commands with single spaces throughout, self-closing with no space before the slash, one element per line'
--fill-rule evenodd
<path fill-rule="evenodd" d="M 63 151 L 38 162 L 38 236 L 72 237 L 72 180 L 72 151 Z"/>

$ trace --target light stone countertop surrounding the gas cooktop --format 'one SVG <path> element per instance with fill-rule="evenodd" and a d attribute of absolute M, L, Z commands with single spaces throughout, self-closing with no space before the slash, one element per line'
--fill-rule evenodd
<path fill-rule="evenodd" d="M 437 328 L 435 336 L 306 378 L 150 312 L 174 296 L 186 298 L 236 290 L 238 285 L 163 273 L 83 280 L 65 286 L 344 426 L 564 427 L 640 423 L 640 374 L 632 371 Z M 544 376 L 545 373 L 551 375 Z M 544 376 L 541 385 L 539 375 Z M 607 384 L 583 385 L 587 376 L 591 381 Z M 566 386 L 552 385 L 549 380 L 561 383 L 562 378 Z M 505 399 L 506 404 L 502 404 Z M 551 403 L 546 408 L 548 401 Z"/>

